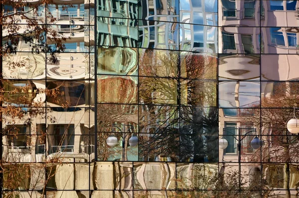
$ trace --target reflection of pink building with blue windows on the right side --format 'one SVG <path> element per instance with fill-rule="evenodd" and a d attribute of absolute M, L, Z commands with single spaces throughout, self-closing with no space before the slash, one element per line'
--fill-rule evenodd
<path fill-rule="evenodd" d="M 283 157 L 289 155 L 284 150 L 287 140 L 283 137 L 287 136 L 278 135 L 290 134 L 284 128 L 280 128 L 280 133 L 276 131 L 276 122 L 287 120 L 278 112 L 288 111 L 286 108 L 294 102 L 291 106 L 284 105 L 275 97 L 280 94 L 285 97 L 282 100 L 291 100 L 297 89 L 297 83 L 289 81 L 298 78 L 298 1 L 219 0 L 218 5 L 219 53 L 223 53 L 218 56 L 219 134 L 229 142 L 224 151 L 219 150 L 219 161 L 225 162 L 224 169 L 228 170 L 238 170 L 238 164 L 242 163 L 242 174 L 260 175 L 274 188 L 275 194 L 295 195 L 299 179 L 294 167 L 298 166 L 298 160 Z M 274 109 L 267 108 L 278 110 L 272 120 Z M 255 136 L 249 134 L 242 140 L 241 162 L 238 162 L 238 141 L 229 134 L 241 133 L 243 138 L 253 128 L 264 141 L 262 149 L 255 151 L 250 147 Z M 290 166 L 289 174 L 286 166 Z"/>

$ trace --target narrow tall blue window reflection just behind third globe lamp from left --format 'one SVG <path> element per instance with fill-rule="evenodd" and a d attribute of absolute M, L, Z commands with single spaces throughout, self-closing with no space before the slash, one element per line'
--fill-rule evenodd
<path fill-rule="evenodd" d="M 235 136 L 237 135 L 237 123 L 226 122 L 223 136 L 228 142 L 225 153 L 237 153 L 237 142 Z"/>

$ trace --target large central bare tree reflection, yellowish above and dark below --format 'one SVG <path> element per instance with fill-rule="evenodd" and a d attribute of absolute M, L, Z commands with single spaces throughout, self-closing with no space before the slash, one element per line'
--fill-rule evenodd
<path fill-rule="evenodd" d="M 147 133 L 141 137 L 143 160 L 217 159 L 216 148 L 207 149 L 218 135 L 218 111 L 210 108 L 216 106 L 216 67 L 216 57 L 207 54 L 149 50 L 140 55 L 140 75 L 147 76 L 139 78 L 145 104 L 139 122 Z"/>

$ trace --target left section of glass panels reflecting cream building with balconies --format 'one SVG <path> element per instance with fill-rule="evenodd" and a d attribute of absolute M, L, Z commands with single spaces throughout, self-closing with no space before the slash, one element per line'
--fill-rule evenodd
<path fill-rule="evenodd" d="M 7 16 L 15 14 L 18 33 L 25 33 L 27 19 L 33 18 L 66 40 L 65 49 L 58 51 L 50 31 L 40 43 L 20 33 L 15 51 L 2 59 L 7 98 L 2 106 L 21 108 L 28 118 L 36 113 L 30 124 L 26 116 L 12 119 L 3 113 L 2 197 L 89 198 L 95 160 L 94 1 L 13 6 L 3 9 Z M 3 46 L 11 43 L 8 34 L 2 30 Z M 48 47 L 32 51 L 35 44 Z"/>

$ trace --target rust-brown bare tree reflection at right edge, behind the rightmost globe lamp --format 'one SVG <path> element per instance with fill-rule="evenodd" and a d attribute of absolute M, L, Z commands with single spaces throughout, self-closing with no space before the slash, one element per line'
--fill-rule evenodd
<path fill-rule="evenodd" d="M 256 153 L 253 156 L 252 160 L 260 160 L 263 162 L 277 162 L 283 163 L 280 167 L 284 167 L 284 177 L 281 178 L 283 180 L 283 188 L 286 189 L 286 197 L 290 198 L 290 188 L 298 188 L 298 186 L 294 186 L 294 182 L 298 178 L 293 177 L 293 181 L 291 181 L 290 170 L 291 167 L 296 167 L 299 162 L 299 148 L 298 148 L 298 136 L 292 136 L 288 133 L 286 128 L 286 122 L 288 119 L 293 116 L 293 106 L 299 104 L 298 94 L 299 94 L 299 85 L 296 82 L 269 82 L 267 87 L 271 87 L 272 92 L 266 94 L 265 97 L 262 98 L 262 107 L 261 117 L 259 113 L 259 109 L 247 109 L 244 112 L 244 116 L 241 121 L 242 122 L 253 122 L 255 126 L 261 127 L 262 135 L 264 135 L 265 146 L 262 148 L 262 156 L 260 152 Z M 265 91 L 266 92 L 266 91 Z M 271 171 L 271 174 L 268 174 L 270 177 L 277 177 L 279 172 L 276 172 L 276 176 L 273 175 L 273 169 L 277 164 L 269 164 L 269 166 L 265 167 L 265 170 Z M 294 170 L 294 169 L 293 169 Z M 277 181 L 273 181 L 268 178 L 270 182 L 269 185 L 277 186 Z M 290 186 L 290 184 L 293 184 Z"/>

